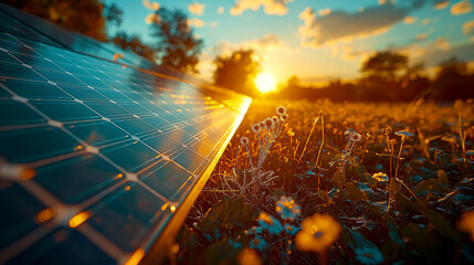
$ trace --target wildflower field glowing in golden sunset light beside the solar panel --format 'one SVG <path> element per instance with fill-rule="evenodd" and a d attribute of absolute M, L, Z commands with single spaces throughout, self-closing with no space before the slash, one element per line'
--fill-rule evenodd
<path fill-rule="evenodd" d="M 472 100 L 256 99 L 170 262 L 474 263 L 473 138 Z"/>

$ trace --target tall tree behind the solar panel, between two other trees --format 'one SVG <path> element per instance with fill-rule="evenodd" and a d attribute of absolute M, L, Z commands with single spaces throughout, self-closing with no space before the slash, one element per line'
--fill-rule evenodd
<path fill-rule="evenodd" d="M 193 35 L 188 17 L 180 10 L 160 8 L 156 11 L 159 23 L 152 23 L 152 35 L 157 41 L 157 55 L 161 65 L 182 72 L 197 73 L 202 41 Z"/>

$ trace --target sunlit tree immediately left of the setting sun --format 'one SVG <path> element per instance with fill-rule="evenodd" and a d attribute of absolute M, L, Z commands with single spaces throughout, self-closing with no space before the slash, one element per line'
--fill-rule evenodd
<path fill-rule="evenodd" d="M 239 50 L 231 56 L 218 56 L 214 61 L 215 85 L 255 96 L 257 91 L 253 80 L 259 71 L 259 62 L 253 61 L 253 50 Z"/>

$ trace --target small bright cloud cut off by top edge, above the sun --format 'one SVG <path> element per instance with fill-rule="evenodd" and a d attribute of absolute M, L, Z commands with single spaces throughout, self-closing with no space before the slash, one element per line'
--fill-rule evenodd
<path fill-rule="evenodd" d="M 294 0 L 236 0 L 230 13 L 231 15 L 239 15 L 246 9 L 256 11 L 260 7 L 263 7 L 263 11 L 266 14 L 283 15 L 288 12 L 286 4 L 293 1 Z"/>

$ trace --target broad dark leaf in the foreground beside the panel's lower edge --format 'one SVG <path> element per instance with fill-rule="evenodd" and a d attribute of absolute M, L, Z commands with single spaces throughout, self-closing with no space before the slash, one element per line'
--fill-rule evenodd
<path fill-rule="evenodd" d="M 223 197 L 222 201 L 210 209 L 207 216 L 199 223 L 199 230 L 203 233 L 213 233 L 215 230 L 245 229 L 250 222 L 250 209 L 243 198 L 231 200 Z"/>

